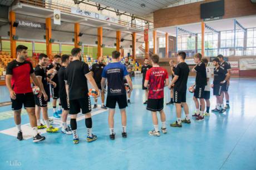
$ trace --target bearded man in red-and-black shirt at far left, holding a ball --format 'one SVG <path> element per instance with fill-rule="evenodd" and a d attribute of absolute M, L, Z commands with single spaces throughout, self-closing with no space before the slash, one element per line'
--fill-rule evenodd
<path fill-rule="evenodd" d="M 27 110 L 31 127 L 33 129 L 33 142 L 45 140 L 37 131 L 37 122 L 35 114 L 35 101 L 32 93 L 30 78 L 40 87 L 35 76 L 32 64 L 25 59 L 27 58 L 27 47 L 19 45 L 16 48 L 17 59 L 8 63 L 6 72 L 6 86 L 9 89 L 12 101 L 12 110 L 14 111 L 14 122 L 18 128 L 19 141 L 23 139 L 21 130 L 21 109 Z M 38 96 L 42 96 L 42 91 Z"/>

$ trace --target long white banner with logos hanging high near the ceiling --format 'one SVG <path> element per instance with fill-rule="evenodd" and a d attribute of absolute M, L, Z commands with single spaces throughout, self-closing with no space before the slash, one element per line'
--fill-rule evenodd
<path fill-rule="evenodd" d="M 77 14 L 77 15 L 80 15 L 80 16 L 86 16 L 86 17 L 91 17 L 91 18 L 100 19 L 100 20 L 104 20 L 104 21 L 109 21 L 109 22 L 118 23 L 118 21 L 119 21 L 117 18 L 104 16 L 104 15 L 99 14 L 99 13 L 85 11 L 85 10 L 77 9 L 77 8 L 74 8 L 74 7 L 71 8 L 71 13 Z"/>

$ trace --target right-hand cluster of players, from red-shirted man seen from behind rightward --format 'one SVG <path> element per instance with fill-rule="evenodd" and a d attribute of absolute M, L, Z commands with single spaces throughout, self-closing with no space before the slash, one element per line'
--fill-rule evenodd
<path fill-rule="evenodd" d="M 179 52 L 177 61 L 169 62 L 171 66 L 172 80 L 169 83 L 169 76 L 166 69 L 159 67 L 159 56 L 153 54 L 151 56 L 152 66 L 149 65 L 149 59 L 144 59 L 144 66 L 141 67 L 142 89 L 145 89 L 147 110 L 152 113 L 152 121 L 154 129 L 149 131 L 151 136 L 160 136 L 158 120 L 156 113 L 160 113 L 162 123 L 161 132 L 167 133 L 165 113 L 164 113 L 164 87 L 168 86 L 171 91 L 171 100 L 166 105 L 176 107 L 177 120 L 170 124 L 171 127 L 182 127 L 182 123 L 190 124 L 189 108 L 186 104 L 186 92 L 189 76 L 189 66 L 185 63 L 186 53 Z M 218 55 L 213 59 L 214 65 L 214 80 L 210 84 L 211 71 L 208 67 L 208 59 L 202 58 L 200 53 L 194 56 L 195 66 L 191 69 L 196 73 L 195 83 L 189 87 L 189 91 L 194 93 L 193 100 L 195 102 L 196 112 L 192 115 L 195 121 L 204 120 L 204 116 L 210 116 L 210 89 L 213 88 L 213 94 L 216 96 L 216 108 L 212 112 L 224 113 L 229 108 L 229 79 L 230 79 L 230 64 L 224 61 L 222 55 Z M 226 106 L 224 107 L 223 98 L 226 98 Z M 205 112 L 206 103 L 206 112 Z M 184 109 L 185 118 L 181 119 L 181 110 Z"/>

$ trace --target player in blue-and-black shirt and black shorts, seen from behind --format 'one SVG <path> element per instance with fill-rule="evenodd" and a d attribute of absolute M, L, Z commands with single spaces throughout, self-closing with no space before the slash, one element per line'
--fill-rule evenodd
<path fill-rule="evenodd" d="M 110 139 L 115 139 L 114 132 L 114 114 L 116 103 L 119 105 L 121 118 L 122 118 L 122 137 L 126 138 L 126 91 L 124 85 L 124 78 L 130 86 L 130 92 L 132 91 L 132 82 L 124 64 L 120 62 L 120 52 L 112 52 L 112 63 L 107 64 L 102 72 L 101 88 L 104 89 L 107 80 L 107 103 L 106 106 L 109 108 L 109 130 Z M 105 93 L 105 89 L 104 89 Z"/>

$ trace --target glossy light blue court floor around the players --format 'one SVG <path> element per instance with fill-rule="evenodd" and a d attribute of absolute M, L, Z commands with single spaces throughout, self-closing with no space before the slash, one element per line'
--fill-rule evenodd
<path fill-rule="evenodd" d="M 193 81 L 190 77 L 188 86 Z M 84 119 L 77 123 L 77 145 L 72 143 L 72 136 L 60 132 L 43 134 L 46 141 L 42 143 L 18 141 L 0 133 L 0 169 L 256 169 L 256 79 L 232 78 L 229 111 L 211 113 L 204 121 L 193 120 L 182 128 L 169 126 L 176 120 L 175 107 L 165 106 L 168 133 L 160 137 L 147 134 L 152 121 L 142 104 L 141 78 L 133 83 L 126 139 L 121 137 L 119 111 L 115 115 L 115 141 L 109 139 L 107 111 L 92 118 L 93 133 L 98 136 L 92 143 L 85 141 Z M 9 101 L 6 87 L 0 87 L 0 94 L 0 102 Z M 190 114 L 195 110 L 192 96 L 187 93 Z M 165 102 L 169 100 L 166 88 Z M 211 97 L 211 108 L 215 104 L 215 97 Z M 14 127 L 10 110 L 11 106 L 0 107 L 0 131 Z M 52 116 L 52 108 L 49 112 Z M 22 124 L 26 123 L 28 116 L 24 114 Z"/>

